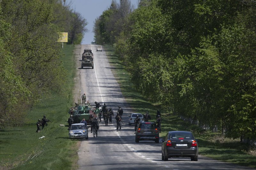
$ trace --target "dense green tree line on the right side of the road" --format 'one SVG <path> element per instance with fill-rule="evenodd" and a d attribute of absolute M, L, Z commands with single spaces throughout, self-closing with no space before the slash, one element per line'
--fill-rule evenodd
<path fill-rule="evenodd" d="M 114 45 L 150 101 L 228 137 L 255 138 L 255 1 L 139 2 L 121 16 L 112 1 L 95 21 L 95 43 Z"/>

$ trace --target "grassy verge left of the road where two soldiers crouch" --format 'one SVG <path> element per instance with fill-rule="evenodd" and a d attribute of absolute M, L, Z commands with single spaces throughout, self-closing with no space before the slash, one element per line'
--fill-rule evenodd
<path fill-rule="evenodd" d="M 66 125 L 68 107 L 73 104 L 72 86 L 75 76 L 73 50 L 75 46 L 65 45 L 62 58 L 69 71 L 68 83 L 63 95 L 53 94 L 51 98 L 38 103 L 30 111 L 22 127 L 0 129 L 0 169 L 76 169 L 72 160 L 78 159 L 77 141 L 69 140 Z M 39 133 L 36 122 L 46 115 L 51 122 Z M 44 138 L 39 139 L 39 137 Z"/>

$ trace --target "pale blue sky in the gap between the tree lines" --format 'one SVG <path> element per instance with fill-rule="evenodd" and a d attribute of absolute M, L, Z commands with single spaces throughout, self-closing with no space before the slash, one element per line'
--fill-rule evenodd
<path fill-rule="evenodd" d="M 137 8 L 138 0 L 130 0 Z M 71 7 L 79 12 L 88 22 L 86 28 L 88 32 L 84 34 L 82 44 L 91 44 L 94 33 L 92 32 L 94 21 L 103 11 L 107 10 L 112 0 L 66 0 L 66 4 L 71 2 Z M 119 0 L 116 0 L 119 3 Z"/>

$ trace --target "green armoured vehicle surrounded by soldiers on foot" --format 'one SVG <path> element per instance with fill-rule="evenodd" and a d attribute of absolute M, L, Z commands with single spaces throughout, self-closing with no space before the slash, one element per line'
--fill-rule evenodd
<path fill-rule="evenodd" d="M 84 118 L 85 121 L 87 122 L 87 126 L 91 127 L 91 122 L 90 122 L 91 117 L 98 117 L 99 113 L 100 113 L 100 109 L 92 107 L 90 103 L 79 104 L 79 106 L 77 107 L 77 110 L 73 112 L 74 123 L 80 123 Z"/>

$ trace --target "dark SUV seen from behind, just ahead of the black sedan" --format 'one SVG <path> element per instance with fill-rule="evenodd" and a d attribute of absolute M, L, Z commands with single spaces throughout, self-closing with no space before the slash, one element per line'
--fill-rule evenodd
<path fill-rule="evenodd" d="M 135 132 L 135 142 L 139 143 L 140 140 L 153 140 L 159 143 L 159 131 L 155 122 L 140 122 Z"/>

